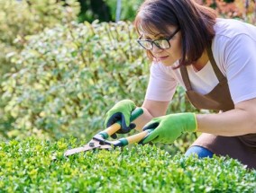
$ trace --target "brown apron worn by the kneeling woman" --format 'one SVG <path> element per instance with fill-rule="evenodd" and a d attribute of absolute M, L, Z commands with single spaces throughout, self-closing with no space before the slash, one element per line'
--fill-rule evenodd
<path fill-rule="evenodd" d="M 219 83 L 206 95 L 192 91 L 187 74 L 187 67 L 181 66 L 180 72 L 187 88 L 187 97 L 197 109 L 233 110 L 234 105 L 229 92 L 227 79 L 216 65 L 211 48 L 206 48 L 206 50 Z M 215 136 L 203 133 L 197 138 L 193 145 L 203 146 L 216 155 L 228 155 L 248 165 L 248 168 L 256 169 L 256 134 L 244 136 Z"/>

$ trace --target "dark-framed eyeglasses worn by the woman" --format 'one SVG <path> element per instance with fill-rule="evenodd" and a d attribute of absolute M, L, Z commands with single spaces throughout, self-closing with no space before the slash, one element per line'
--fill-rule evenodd
<path fill-rule="evenodd" d="M 150 40 L 150 39 L 141 39 L 142 38 L 141 37 L 140 39 L 137 39 L 137 42 L 142 46 L 142 48 L 147 49 L 147 50 L 151 50 L 153 48 L 153 44 L 157 48 L 167 49 L 167 48 L 170 48 L 169 40 L 172 39 L 179 30 L 180 29 L 178 28 L 167 39 Z"/>

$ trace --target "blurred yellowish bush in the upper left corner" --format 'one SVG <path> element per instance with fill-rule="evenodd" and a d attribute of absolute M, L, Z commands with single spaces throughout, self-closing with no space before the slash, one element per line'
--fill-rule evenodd
<path fill-rule="evenodd" d="M 25 36 L 40 33 L 57 23 L 73 21 L 78 11 L 79 4 L 75 0 L 0 0 L 0 81 L 11 67 L 15 67 L 8 59 L 13 52 L 23 49 Z"/>

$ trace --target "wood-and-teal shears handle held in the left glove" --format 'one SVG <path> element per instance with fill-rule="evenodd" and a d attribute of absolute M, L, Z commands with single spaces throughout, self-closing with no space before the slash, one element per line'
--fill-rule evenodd
<path fill-rule="evenodd" d="M 140 117 L 143 114 L 142 108 L 137 108 L 133 110 L 130 121 L 133 122 L 136 118 Z M 100 132 L 99 135 L 101 135 L 104 139 L 107 139 L 109 136 L 112 136 L 116 131 L 118 131 L 121 128 L 121 121 L 117 121 L 112 126 L 107 127 L 104 131 Z"/>

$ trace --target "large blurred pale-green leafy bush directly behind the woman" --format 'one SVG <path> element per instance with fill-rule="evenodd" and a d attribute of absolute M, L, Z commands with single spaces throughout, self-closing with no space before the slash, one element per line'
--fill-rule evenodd
<path fill-rule="evenodd" d="M 16 71 L 2 83 L 2 122 L 9 123 L 2 133 L 90 137 L 115 102 L 128 98 L 142 105 L 150 65 L 136 38 L 131 22 L 73 22 L 28 37 L 12 57 Z M 182 92 L 173 112 L 192 109 Z"/>

